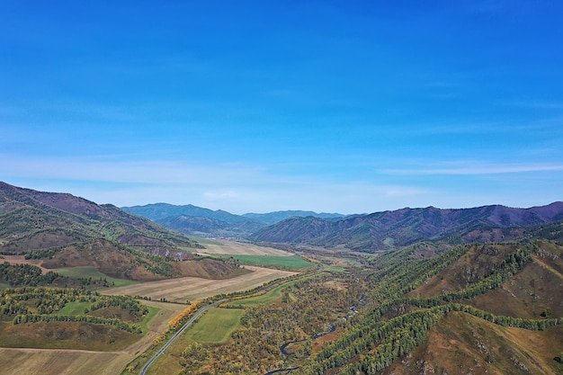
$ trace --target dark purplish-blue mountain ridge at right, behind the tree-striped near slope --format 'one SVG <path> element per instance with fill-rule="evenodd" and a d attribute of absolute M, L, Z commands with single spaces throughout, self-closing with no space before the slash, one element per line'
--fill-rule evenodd
<path fill-rule="evenodd" d="M 385 250 L 423 240 L 460 237 L 479 228 L 518 228 L 563 220 L 563 202 L 530 209 L 501 205 L 472 209 L 402 209 L 338 220 L 290 218 L 249 237 L 258 242 Z M 473 233 L 473 238 L 478 237 Z"/>

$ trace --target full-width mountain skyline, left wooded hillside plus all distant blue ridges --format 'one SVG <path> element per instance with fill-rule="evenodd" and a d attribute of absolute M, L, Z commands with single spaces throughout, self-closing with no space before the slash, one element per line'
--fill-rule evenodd
<path fill-rule="evenodd" d="M 235 215 L 166 203 L 119 209 L 68 193 L 0 183 L 0 251 L 4 252 L 66 246 L 92 237 L 153 254 L 180 256 L 185 252 L 176 251 L 179 247 L 200 246 L 179 232 L 372 252 L 420 241 L 505 241 L 561 221 L 561 201 L 529 209 L 490 205 L 456 210 L 405 208 L 351 216 L 302 210 Z"/>

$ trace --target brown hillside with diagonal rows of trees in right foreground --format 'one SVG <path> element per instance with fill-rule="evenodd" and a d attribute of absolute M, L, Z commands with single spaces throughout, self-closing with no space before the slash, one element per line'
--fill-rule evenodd
<path fill-rule="evenodd" d="M 415 253 L 411 246 L 376 258 L 366 311 L 305 373 L 561 373 L 561 244 L 457 246 L 422 260 Z"/>

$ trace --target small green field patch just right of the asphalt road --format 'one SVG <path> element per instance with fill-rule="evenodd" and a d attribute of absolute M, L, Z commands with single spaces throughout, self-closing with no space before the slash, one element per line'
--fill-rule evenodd
<path fill-rule="evenodd" d="M 239 308 L 210 308 L 186 332 L 185 337 L 201 344 L 224 343 L 237 329 L 243 312 Z"/>

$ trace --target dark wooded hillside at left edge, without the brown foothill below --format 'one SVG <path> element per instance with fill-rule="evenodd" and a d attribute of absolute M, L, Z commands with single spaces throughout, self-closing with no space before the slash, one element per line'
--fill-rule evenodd
<path fill-rule="evenodd" d="M 37 192 L 0 182 L 0 251 L 22 252 L 104 238 L 165 254 L 190 238 L 119 208 L 67 193 Z"/>

